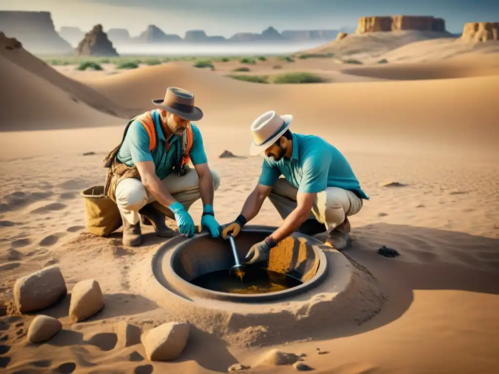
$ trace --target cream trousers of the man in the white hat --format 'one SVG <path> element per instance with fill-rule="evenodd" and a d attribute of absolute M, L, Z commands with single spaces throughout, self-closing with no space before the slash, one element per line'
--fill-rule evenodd
<path fill-rule="evenodd" d="M 296 208 L 296 194 L 298 189 L 291 186 L 284 178 L 279 178 L 268 195 L 282 219 L 286 218 Z M 336 226 L 343 223 L 345 217 L 357 214 L 363 202 L 352 191 L 327 187 L 317 193 L 312 205 L 309 219 L 316 219 L 331 232 Z"/>

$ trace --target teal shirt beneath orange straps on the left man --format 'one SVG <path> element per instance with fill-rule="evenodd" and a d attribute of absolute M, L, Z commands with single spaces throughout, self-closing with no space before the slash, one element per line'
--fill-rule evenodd
<path fill-rule="evenodd" d="M 158 144 L 156 148 L 149 152 L 149 135 L 144 125 L 140 121 L 133 121 L 128 128 L 125 140 L 118 151 L 118 161 L 132 167 L 135 163 L 142 161 L 153 161 L 156 167 L 156 175 L 159 179 L 165 179 L 172 173 L 178 158 L 181 156 L 181 140 L 173 136 L 170 140 L 170 149 L 166 152 L 166 138 L 161 122 L 159 120 L 159 111 L 152 111 L 152 118 L 158 132 Z M 194 165 L 208 162 L 203 137 L 198 127 L 191 122 L 193 144 L 189 156 Z"/>

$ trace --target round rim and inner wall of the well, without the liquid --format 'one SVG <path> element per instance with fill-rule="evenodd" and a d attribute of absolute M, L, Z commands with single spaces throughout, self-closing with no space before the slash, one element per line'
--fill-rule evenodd
<path fill-rule="evenodd" d="M 250 247 L 267 235 L 267 229 L 242 230 L 235 238 L 240 262 L 244 261 Z M 235 302 L 277 300 L 309 290 L 326 275 L 326 256 L 318 246 L 313 245 L 314 242 L 315 239 L 311 237 L 287 237 L 271 250 L 268 262 L 246 268 L 247 273 L 256 271 L 255 268 L 264 268 L 271 271 L 270 277 L 280 273 L 301 282 L 299 285 L 277 292 L 238 294 L 213 291 L 192 284 L 193 279 L 219 270 L 226 270 L 228 277 L 232 276 L 235 281 L 239 281 L 235 274 L 229 274 L 229 269 L 235 264 L 230 242 L 223 239 L 213 240 L 208 234 L 201 234 L 175 245 L 172 248 L 169 264 L 163 263 L 163 266 L 170 266 L 170 272 L 173 271 L 177 278 L 176 286 L 187 295 Z M 318 243 L 320 242 L 317 241 L 315 244 Z M 247 279 L 249 276 L 246 276 Z"/>

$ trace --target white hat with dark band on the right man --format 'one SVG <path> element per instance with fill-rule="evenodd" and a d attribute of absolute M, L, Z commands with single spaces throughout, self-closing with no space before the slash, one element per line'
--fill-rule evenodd
<path fill-rule="evenodd" d="M 279 116 L 271 110 L 263 113 L 251 124 L 253 143 L 250 146 L 250 156 L 257 156 L 270 147 L 282 134 L 289 129 L 293 116 L 284 114 Z"/>

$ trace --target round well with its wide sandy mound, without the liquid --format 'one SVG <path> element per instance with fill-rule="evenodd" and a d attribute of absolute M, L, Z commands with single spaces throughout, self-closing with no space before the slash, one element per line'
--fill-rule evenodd
<path fill-rule="evenodd" d="M 275 229 L 245 226 L 235 238 L 240 261 L 254 243 Z M 368 321 L 385 300 L 366 268 L 320 240 L 296 232 L 270 250 L 266 263 L 252 265 L 300 279 L 300 284 L 278 292 L 239 294 L 192 284 L 200 275 L 234 265 L 230 242 L 208 233 L 176 236 L 152 251 L 147 261 L 136 267 L 133 284 L 162 307 L 157 319 L 188 321 L 238 346 L 331 336 L 336 328 Z M 248 267 L 247 275 L 250 271 Z"/>

